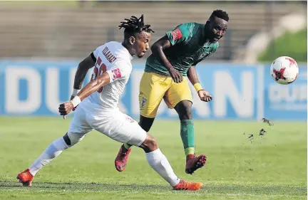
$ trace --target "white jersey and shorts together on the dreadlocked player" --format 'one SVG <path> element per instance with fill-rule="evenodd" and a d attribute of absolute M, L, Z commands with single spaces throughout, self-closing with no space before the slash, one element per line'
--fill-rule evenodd
<path fill-rule="evenodd" d="M 128 50 L 118 42 L 109 42 L 93 51 L 96 57 L 92 79 L 108 73 L 110 83 L 85 98 L 77 107 L 68 130 L 71 141 L 78 142 L 91 130 L 97 130 L 121 143 L 137 147 L 147 134 L 138 122 L 120 112 L 118 102 L 132 71 Z"/>

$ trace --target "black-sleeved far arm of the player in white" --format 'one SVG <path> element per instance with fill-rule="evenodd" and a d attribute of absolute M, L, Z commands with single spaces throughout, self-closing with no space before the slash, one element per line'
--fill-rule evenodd
<path fill-rule="evenodd" d="M 88 73 L 88 70 L 93 68 L 93 66 L 96 63 L 96 58 L 91 53 L 88 57 L 83 59 L 81 63 L 79 63 L 76 74 L 75 74 L 75 79 L 74 79 L 74 84 L 73 84 L 73 95 L 77 95 L 77 93 L 81 90 L 81 85 L 83 84 L 83 80 L 86 78 L 86 74 Z M 71 98 L 71 99 L 72 99 Z"/>

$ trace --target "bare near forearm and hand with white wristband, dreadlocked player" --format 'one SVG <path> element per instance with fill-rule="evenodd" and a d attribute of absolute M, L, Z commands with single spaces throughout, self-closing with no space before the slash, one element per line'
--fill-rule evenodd
<path fill-rule="evenodd" d="M 63 116 L 68 115 L 68 113 L 70 113 L 71 110 L 73 110 L 73 108 L 76 107 L 84 98 L 96 92 L 99 88 L 103 87 L 104 85 L 109 84 L 110 80 L 111 80 L 110 75 L 107 72 L 98 76 L 98 78 L 90 81 L 84 88 L 82 88 L 81 91 L 76 95 L 76 97 L 73 98 L 73 100 L 70 100 L 68 102 L 63 102 L 58 107 L 58 112 L 60 112 L 60 115 Z"/>

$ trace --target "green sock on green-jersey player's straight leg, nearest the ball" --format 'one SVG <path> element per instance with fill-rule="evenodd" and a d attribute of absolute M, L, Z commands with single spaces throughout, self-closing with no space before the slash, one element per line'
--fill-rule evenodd
<path fill-rule="evenodd" d="M 185 149 L 185 155 L 195 154 L 195 130 L 193 120 L 180 120 L 180 125 L 180 135 Z"/>

